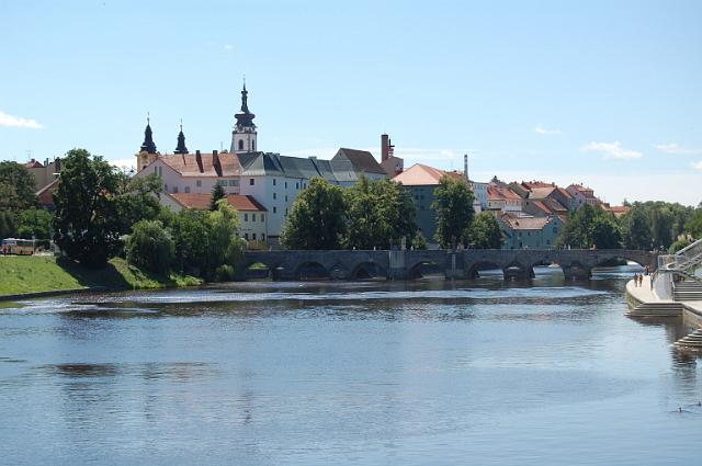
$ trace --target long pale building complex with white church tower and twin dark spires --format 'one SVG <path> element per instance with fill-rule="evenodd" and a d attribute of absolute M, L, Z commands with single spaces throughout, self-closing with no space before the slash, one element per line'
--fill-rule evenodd
<path fill-rule="evenodd" d="M 163 191 L 177 194 L 210 195 L 216 184 L 228 195 L 254 198 L 267 209 L 265 240 L 276 246 L 285 219 L 298 194 L 313 178 L 324 178 L 332 184 L 353 185 L 361 177 L 387 179 L 386 170 L 366 150 L 340 148 L 331 160 L 316 157 L 286 157 L 259 151 L 256 115 L 248 106 L 246 84 L 241 90 L 241 109 L 235 115 L 229 151 L 191 154 L 185 145 L 182 124 L 173 154 L 160 154 L 154 141 L 150 118 L 144 130 L 144 143 L 136 154 L 136 177 L 156 173 L 161 177 Z M 389 150 L 389 138 L 387 140 Z M 393 163 L 401 159 L 388 158 Z M 257 232 L 261 238 L 261 232 Z"/>

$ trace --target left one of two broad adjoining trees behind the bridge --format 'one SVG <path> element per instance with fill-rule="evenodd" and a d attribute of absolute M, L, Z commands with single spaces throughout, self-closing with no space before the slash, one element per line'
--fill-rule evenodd
<path fill-rule="evenodd" d="M 341 187 L 314 178 L 287 216 L 281 243 L 286 249 L 339 249 L 346 225 Z"/>

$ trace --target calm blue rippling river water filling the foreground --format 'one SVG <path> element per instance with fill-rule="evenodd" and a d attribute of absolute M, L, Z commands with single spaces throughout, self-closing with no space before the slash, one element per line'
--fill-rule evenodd
<path fill-rule="evenodd" d="M 556 271 L 5 304 L 0 464 L 702 464 L 683 325 Z"/>

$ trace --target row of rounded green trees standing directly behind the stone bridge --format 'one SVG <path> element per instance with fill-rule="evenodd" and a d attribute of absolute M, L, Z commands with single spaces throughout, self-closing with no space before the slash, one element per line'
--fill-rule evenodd
<path fill-rule="evenodd" d="M 499 248 L 502 242 L 491 214 L 475 216 L 474 195 L 467 183 L 444 177 L 434 191 L 435 240 L 444 248 L 471 245 Z M 281 243 L 286 249 L 426 249 L 415 221 L 409 191 L 389 180 L 365 177 L 349 189 L 315 178 L 297 196 L 287 216 Z"/>

